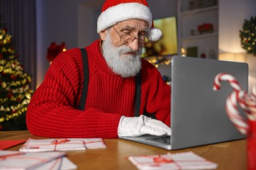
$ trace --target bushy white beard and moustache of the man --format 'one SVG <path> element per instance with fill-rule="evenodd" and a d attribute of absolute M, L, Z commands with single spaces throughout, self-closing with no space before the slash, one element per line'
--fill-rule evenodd
<path fill-rule="evenodd" d="M 126 78 L 135 76 L 140 72 L 142 48 L 133 51 L 129 46 L 125 45 L 116 47 L 112 44 L 110 33 L 107 32 L 106 40 L 102 44 L 102 50 L 108 67 L 117 75 Z M 133 52 L 134 54 L 125 54 L 127 52 Z"/>

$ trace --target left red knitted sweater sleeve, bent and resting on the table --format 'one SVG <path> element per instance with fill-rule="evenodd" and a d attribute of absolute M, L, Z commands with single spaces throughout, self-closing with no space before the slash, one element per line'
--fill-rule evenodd
<path fill-rule="evenodd" d="M 118 137 L 121 115 L 97 109 L 75 109 L 82 82 L 79 49 L 59 54 L 28 106 L 26 122 L 30 133 L 43 137 Z"/>

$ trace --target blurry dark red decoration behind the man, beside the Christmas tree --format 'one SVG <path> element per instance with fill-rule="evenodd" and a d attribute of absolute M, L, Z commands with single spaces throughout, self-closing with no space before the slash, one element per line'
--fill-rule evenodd
<path fill-rule="evenodd" d="M 47 59 L 49 62 L 53 61 L 60 52 L 63 52 L 63 50 L 66 48 L 65 42 L 62 42 L 62 44 L 57 45 L 56 42 L 52 42 L 47 50 Z"/>

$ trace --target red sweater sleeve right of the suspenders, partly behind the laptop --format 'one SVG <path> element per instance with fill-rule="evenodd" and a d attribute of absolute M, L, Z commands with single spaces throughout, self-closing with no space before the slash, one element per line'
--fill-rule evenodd
<path fill-rule="evenodd" d="M 171 86 L 163 81 L 161 73 L 148 61 L 142 60 L 142 103 L 146 112 L 155 114 L 167 126 L 171 124 Z M 141 108 L 143 109 L 143 108 Z M 140 110 L 143 112 L 143 110 Z"/>

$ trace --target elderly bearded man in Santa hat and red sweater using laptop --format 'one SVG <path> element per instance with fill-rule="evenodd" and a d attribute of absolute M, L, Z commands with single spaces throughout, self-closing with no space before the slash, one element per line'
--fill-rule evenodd
<path fill-rule="evenodd" d="M 74 48 L 54 59 L 28 107 L 30 133 L 170 135 L 171 88 L 154 65 L 140 58 L 142 46 L 161 38 L 146 0 L 106 0 L 97 26 L 100 40 L 85 53 Z"/>

